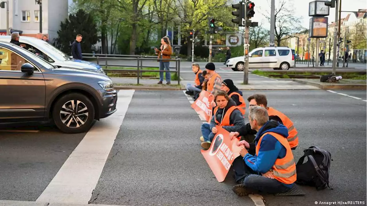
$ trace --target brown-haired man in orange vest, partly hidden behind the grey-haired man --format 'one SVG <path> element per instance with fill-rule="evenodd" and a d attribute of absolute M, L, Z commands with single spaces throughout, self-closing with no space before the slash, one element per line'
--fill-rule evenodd
<path fill-rule="evenodd" d="M 295 150 L 298 146 L 298 132 L 296 128 L 293 125 L 293 122 L 283 113 L 280 111 L 275 110 L 272 107 L 268 107 L 268 100 L 266 99 L 266 96 L 264 94 L 258 94 L 255 93 L 254 95 L 251 95 L 247 98 L 247 101 L 249 102 L 249 108 L 252 106 L 261 106 L 265 107 L 268 110 L 269 119 L 273 119 L 280 124 L 283 124 L 288 128 L 288 143 L 292 150 Z M 242 127 L 239 131 L 232 132 L 230 136 L 246 136 L 248 134 L 254 134 L 256 131 L 251 130 L 250 124 L 247 124 L 246 126 Z M 251 144 L 251 143 L 250 143 Z"/>

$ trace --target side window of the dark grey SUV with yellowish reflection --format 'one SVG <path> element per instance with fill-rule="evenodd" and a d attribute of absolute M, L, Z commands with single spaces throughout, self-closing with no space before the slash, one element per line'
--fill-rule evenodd
<path fill-rule="evenodd" d="M 0 70 L 20 71 L 28 60 L 6 48 L 0 48 Z"/>

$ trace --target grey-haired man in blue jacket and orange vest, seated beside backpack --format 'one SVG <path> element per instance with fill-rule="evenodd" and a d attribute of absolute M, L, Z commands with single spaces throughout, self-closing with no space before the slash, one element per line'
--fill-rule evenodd
<path fill-rule="evenodd" d="M 249 110 L 251 128 L 257 131 L 255 155 L 248 153 L 246 141 L 237 144 L 244 148 L 232 164 L 237 183 L 232 190 L 239 196 L 258 191 L 286 192 L 297 180 L 293 153 L 287 141 L 288 129 L 277 121 L 269 121 L 264 107 L 254 106 Z"/>

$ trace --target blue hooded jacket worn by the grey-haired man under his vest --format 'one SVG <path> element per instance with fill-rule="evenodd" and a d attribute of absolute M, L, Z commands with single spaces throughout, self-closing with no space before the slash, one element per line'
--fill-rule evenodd
<path fill-rule="evenodd" d="M 259 130 L 255 138 L 255 144 L 257 145 L 259 139 L 265 132 L 274 132 L 284 138 L 288 137 L 288 129 L 279 122 L 270 120 L 265 123 Z M 258 173 L 268 172 L 274 165 L 277 158 L 283 158 L 286 156 L 286 148 L 272 135 L 267 134 L 261 140 L 260 150 L 258 155 L 246 154 L 243 159 L 247 166 Z M 287 184 L 285 184 L 287 185 Z M 287 185 L 288 186 L 288 185 Z M 289 185 L 290 187 L 292 184 Z"/>

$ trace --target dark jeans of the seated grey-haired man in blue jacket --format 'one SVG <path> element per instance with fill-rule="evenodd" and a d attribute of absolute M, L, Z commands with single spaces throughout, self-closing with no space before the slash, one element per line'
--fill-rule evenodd
<path fill-rule="evenodd" d="M 241 180 L 243 180 L 241 184 L 252 191 L 280 193 L 291 189 L 291 187 L 287 187 L 276 179 L 270 179 L 257 174 L 257 172 L 246 165 L 242 156 L 237 157 L 233 161 L 232 168 L 235 171 L 236 183 L 241 183 Z"/>

